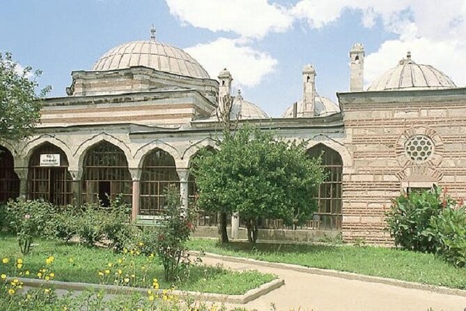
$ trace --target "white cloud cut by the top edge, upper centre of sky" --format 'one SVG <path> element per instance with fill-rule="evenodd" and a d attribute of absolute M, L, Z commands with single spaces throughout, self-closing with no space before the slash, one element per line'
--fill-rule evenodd
<path fill-rule="evenodd" d="M 170 13 L 192 26 L 210 31 L 233 31 L 262 38 L 270 31 L 286 31 L 293 17 L 286 8 L 267 0 L 166 0 Z"/>

